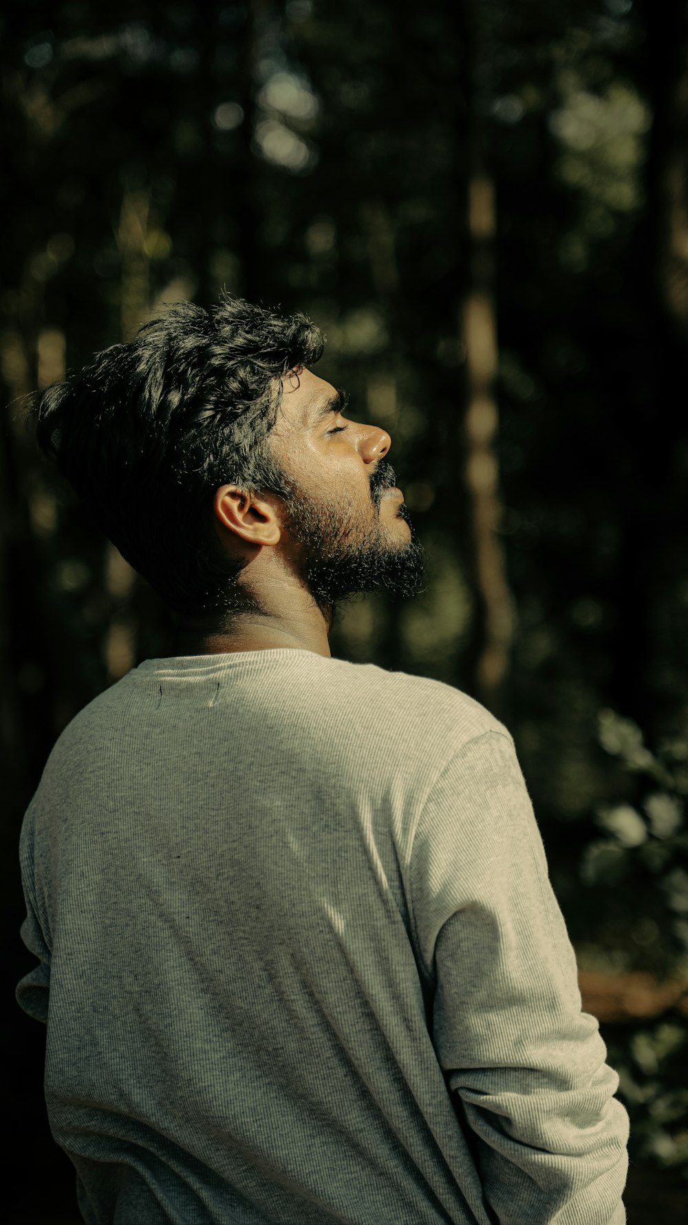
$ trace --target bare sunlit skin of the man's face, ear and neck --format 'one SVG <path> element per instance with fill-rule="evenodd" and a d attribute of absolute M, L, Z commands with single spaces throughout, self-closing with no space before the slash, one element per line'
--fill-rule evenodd
<path fill-rule="evenodd" d="M 283 396 L 271 446 L 283 470 L 310 497 L 326 503 L 335 495 L 355 512 L 356 530 L 389 533 L 408 544 L 411 532 L 397 516 L 403 501 L 398 489 L 386 489 L 380 511 L 371 499 L 371 475 L 392 446 L 376 425 L 351 421 L 339 412 L 321 409 L 335 388 L 306 368 L 283 380 Z M 246 564 L 239 586 L 250 592 L 262 612 L 233 619 L 228 630 L 179 630 L 176 654 L 219 654 L 288 647 L 331 655 L 328 635 L 333 610 L 320 606 L 304 582 L 300 545 L 284 523 L 284 503 L 274 494 L 249 494 L 222 485 L 213 500 L 214 528 L 233 557 Z M 370 526 L 370 527 L 368 527 Z"/>

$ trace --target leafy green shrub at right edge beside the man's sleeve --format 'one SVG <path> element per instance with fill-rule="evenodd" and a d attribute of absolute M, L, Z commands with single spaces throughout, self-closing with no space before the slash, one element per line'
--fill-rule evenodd
<path fill-rule="evenodd" d="M 606 837 L 589 843 L 580 866 L 593 922 L 608 922 L 610 895 L 623 891 L 627 964 L 686 982 L 651 1025 L 617 1027 L 610 1061 L 630 1116 L 632 1159 L 688 1177 L 688 746 L 668 739 L 651 752 L 637 724 L 611 709 L 599 714 L 599 740 L 632 783 L 633 802 L 597 806 Z"/>

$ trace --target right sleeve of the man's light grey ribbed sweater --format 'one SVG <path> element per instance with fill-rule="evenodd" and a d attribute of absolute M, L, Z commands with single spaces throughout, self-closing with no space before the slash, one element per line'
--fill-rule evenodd
<path fill-rule="evenodd" d="M 621 1225 L 628 1117 L 509 736 L 476 736 L 432 788 L 411 894 L 435 1050 L 496 1220 Z"/>

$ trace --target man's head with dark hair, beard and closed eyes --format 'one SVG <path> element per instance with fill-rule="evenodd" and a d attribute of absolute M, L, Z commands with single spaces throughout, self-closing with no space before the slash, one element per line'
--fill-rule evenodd
<path fill-rule="evenodd" d="M 264 548 L 321 606 L 420 589 L 389 436 L 342 418 L 340 393 L 307 369 L 322 349 L 302 315 L 181 303 L 37 397 L 39 446 L 182 617 L 261 611 L 241 575 Z"/>

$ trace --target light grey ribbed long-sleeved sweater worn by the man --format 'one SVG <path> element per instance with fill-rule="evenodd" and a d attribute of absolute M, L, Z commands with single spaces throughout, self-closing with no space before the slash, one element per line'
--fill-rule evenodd
<path fill-rule="evenodd" d="M 149 659 L 21 842 L 88 1225 L 619 1225 L 627 1116 L 512 737 L 307 650 Z"/>

